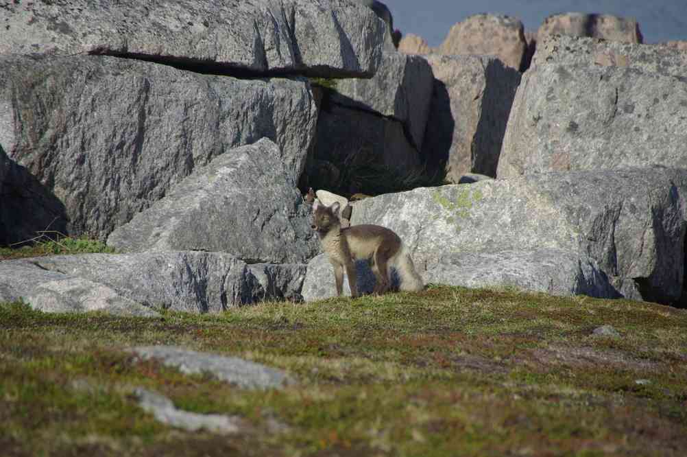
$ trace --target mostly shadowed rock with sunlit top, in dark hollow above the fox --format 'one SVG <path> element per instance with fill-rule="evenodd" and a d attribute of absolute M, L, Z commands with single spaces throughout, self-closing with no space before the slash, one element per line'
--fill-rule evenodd
<path fill-rule="evenodd" d="M 420 174 L 432 83 L 431 68 L 422 57 L 396 51 L 384 55 L 373 78 L 337 81 L 336 89 L 322 98 L 315 147 L 306 166 L 309 182 L 339 192 L 372 193 L 357 181 L 358 171 L 369 174 L 370 164 L 401 179 Z M 322 163 L 341 173 L 325 178 L 317 165 Z M 346 179 L 339 179 L 341 175 Z"/>

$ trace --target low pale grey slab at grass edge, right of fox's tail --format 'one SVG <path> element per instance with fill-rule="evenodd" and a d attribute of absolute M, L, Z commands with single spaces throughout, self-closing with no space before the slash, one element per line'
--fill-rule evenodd
<path fill-rule="evenodd" d="M 424 278 L 435 284 L 515 287 L 555 296 L 619 296 L 596 262 L 560 249 L 456 252 L 441 256 Z"/>

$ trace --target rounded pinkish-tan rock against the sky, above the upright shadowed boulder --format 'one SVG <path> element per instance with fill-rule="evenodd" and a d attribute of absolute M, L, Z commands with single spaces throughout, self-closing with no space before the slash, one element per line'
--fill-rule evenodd
<path fill-rule="evenodd" d="M 480 54 L 497 56 L 508 67 L 521 69 L 527 43 L 519 19 L 493 14 L 475 14 L 449 31 L 440 54 Z"/>

